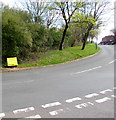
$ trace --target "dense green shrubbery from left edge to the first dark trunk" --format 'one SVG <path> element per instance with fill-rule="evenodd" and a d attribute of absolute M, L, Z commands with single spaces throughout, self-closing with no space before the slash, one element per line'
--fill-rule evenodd
<path fill-rule="evenodd" d="M 17 57 L 19 62 L 28 59 L 33 52 L 58 49 L 62 30 L 47 28 L 34 23 L 29 13 L 4 7 L 2 13 L 2 60 Z M 66 43 L 67 44 L 67 43 Z"/>

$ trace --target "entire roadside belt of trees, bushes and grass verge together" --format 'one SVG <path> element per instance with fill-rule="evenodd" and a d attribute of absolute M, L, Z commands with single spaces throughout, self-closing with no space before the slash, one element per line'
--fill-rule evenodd
<path fill-rule="evenodd" d="M 99 48 L 86 44 L 98 35 L 107 5 L 104 1 L 47 3 L 41 0 L 24 0 L 24 9 L 2 5 L 3 67 L 7 66 L 8 57 L 17 57 L 19 67 L 29 67 L 94 54 Z"/>

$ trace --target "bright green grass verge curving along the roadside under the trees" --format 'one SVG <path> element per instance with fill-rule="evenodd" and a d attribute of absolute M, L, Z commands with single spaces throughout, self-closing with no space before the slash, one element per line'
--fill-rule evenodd
<path fill-rule="evenodd" d="M 85 50 L 81 50 L 81 46 L 66 48 L 62 51 L 55 50 L 42 54 L 40 58 L 33 63 L 20 64 L 18 65 L 18 67 L 25 68 L 25 67 L 46 66 L 46 65 L 64 63 L 67 61 L 72 61 L 93 55 L 99 50 L 100 50 L 99 47 L 96 50 L 96 46 L 94 44 L 86 45 Z"/>

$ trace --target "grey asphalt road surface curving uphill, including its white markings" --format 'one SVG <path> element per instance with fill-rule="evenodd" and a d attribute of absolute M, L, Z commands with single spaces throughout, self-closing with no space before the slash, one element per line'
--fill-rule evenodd
<path fill-rule="evenodd" d="M 114 46 L 89 58 L 3 73 L 5 118 L 113 118 Z"/>

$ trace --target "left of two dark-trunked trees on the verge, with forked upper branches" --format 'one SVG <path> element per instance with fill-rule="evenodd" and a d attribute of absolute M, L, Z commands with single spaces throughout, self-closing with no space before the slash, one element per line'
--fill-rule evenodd
<path fill-rule="evenodd" d="M 61 11 L 62 17 L 65 21 L 64 31 L 62 33 L 62 39 L 59 45 L 59 50 L 63 49 L 63 43 L 66 36 L 67 29 L 69 28 L 69 24 L 71 21 L 72 16 L 74 15 L 75 11 L 81 7 L 81 2 L 55 2 L 57 5 L 57 10 Z"/>

